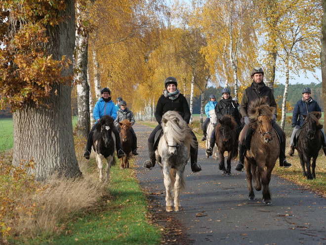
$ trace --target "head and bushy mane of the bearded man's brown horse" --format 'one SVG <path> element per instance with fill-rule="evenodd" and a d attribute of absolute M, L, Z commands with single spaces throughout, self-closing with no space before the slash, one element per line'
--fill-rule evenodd
<path fill-rule="evenodd" d="M 258 131 L 265 143 L 273 140 L 273 115 L 276 108 L 269 106 L 266 98 L 259 98 L 252 101 L 248 108 L 250 126 Z"/>

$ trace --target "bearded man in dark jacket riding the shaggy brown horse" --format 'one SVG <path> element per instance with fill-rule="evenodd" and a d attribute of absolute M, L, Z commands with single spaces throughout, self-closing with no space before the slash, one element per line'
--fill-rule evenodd
<path fill-rule="evenodd" d="M 249 118 L 248 118 L 248 107 L 251 101 L 256 98 L 267 98 L 269 101 L 269 105 L 275 107 L 275 113 L 277 109 L 277 104 L 274 98 L 274 93 L 271 88 L 267 87 L 263 81 L 264 79 L 264 70 L 260 67 L 253 68 L 251 71 L 251 79 L 253 80 L 251 86 L 246 88 L 243 93 L 240 112 L 244 117 L 244 128 L 241 133 L 241 138 L 239 140 L 239 163 L 236 166 L 237 171 L 242 171 L 244 168 L 244 152 L 246 147 L 244 145 L 244 136 L 246 135 L 247 130 L 249 129 Z M 288 168 L 291 166 L 285 157 L 285 145 L 286 145 L 286 137 L 283 129 L 276 123 L 276 114 L 274 114 L 273 119 L 273 128 L 281 138 L 280 142 L 280 166 Z"/>

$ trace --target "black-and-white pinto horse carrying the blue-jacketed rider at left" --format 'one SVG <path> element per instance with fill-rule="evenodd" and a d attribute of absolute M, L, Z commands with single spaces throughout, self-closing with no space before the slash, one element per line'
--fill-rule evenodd
<path fill-rule="evenodd" d="M 96 129 L 93 133 L 93 146 L 95 152 L 97 169 L 100 174 L 100 182 L 109 181 L 110 168 L 116 164 L 114 152 L 116 150 L 116 138 L 112 132 L 114 128 L 114 119 L 109 115 L 101 117 L 96 123 Z M 103 179 L 103 158 L 106 159 L 105 178 Z"/>

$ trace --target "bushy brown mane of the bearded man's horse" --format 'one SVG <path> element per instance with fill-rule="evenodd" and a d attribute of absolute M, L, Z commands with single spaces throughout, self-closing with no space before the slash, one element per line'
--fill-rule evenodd
<path fill-rule="evenodd" d="M 256 98 L 251 101 L 248 107 L 249 124 L 252 128 L 257 126 L 256 121 L 260 115 L 265 115 L 269 118 L 273 118 L 273 114 L 276 112 L 276 108 L 269 105 L 267 97 Z"/>

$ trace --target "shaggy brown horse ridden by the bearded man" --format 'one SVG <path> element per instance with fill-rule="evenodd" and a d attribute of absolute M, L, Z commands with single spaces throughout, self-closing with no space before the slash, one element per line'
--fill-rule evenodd
<path fill-rule="evenodd" d="M 255 182 L 256 191 L 263 186 L 263 201 L 271 204 L 269 182 L 280 155 L 280 142 L 272 121 L 275 107 L 269 106 L 266 98 L 253 100 L 248 107 L 249 126 L 253 129 L 250 150 L 246 151 L 244 166 L 248 182 L 249 200 L 254 200 L 252 182 Z"/>

